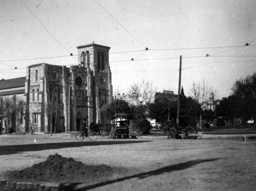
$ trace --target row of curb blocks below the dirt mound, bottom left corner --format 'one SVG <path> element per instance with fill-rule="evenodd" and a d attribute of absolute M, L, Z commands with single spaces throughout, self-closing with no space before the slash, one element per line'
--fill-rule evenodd
<path fill-rule="evenodd" d="M 9 181 L 7 179 L 0 179 L 0 187 L 15 189 L 15 190 L 31 190 L 31 191 L 59 191 L 61 184 L 53 182 L 32 183 L 32 182 L 18 182 Z"/>

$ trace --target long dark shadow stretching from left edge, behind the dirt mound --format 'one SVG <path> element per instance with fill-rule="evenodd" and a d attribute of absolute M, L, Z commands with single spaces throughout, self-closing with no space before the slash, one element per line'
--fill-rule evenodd
<path fill-rule="evenodd" d="M 11 155 L 18 152 L 27 152 L 27 151 L 40 151 L 48 149 L 62 149 L 69 147 L 82 147 L 82 146 L 96 146 L 96 145 L 116 145 L 116 144 L 134 144 L 141 142 L 150 142 L 150 141 L 84 141 L 84 142 L 55 142 L 55 143 L 45 143 L 45 144 L 29 144 L 29 145 L 7 145 L 0 146 L 0 155 Z"/>

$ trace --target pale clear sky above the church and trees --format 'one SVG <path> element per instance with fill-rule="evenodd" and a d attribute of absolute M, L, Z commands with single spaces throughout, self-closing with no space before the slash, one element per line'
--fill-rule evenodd
<path fill-rule="evenodd" d="M 178 94 L 182 56 L 185 95 L 206 81 L 221 99 L 256 72 L 256 1 L 0 0 L 0 79 L 77 65 L 76 47 L 93 42 L 111 47 L 114 92 L 145 80 Z"/>

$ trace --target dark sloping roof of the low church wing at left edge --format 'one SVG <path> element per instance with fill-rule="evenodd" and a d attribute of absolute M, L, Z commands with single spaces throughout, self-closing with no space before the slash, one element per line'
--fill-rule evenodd
<path fill-rule="evenodd" d="M 8 80 L 0 80 L 0 90 L 11 89 L 15 87 L 25 87 L 26 77 L 17 77 Z"/>

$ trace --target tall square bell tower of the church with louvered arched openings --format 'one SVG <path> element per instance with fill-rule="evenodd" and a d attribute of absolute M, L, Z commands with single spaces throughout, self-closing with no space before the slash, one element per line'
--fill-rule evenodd
<path fill-rule="evenodd" d="M 88 123 L 105 125 L 105 108 L 112 99 L 112 76 L 109 65 L 110 47 L 94 44 L 77 46 L 78 65 L 87 73 Z"/>

